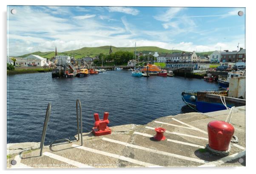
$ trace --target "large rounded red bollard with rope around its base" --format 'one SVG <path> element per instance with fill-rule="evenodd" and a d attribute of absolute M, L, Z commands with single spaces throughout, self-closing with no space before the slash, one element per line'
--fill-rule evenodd
<path fill-rule="evenodd" d="M 231 138 L 235 132 L 234 127 L 223 121 L 208 123 L 208 139 L 211 149 L 218 151 L 228 150 Z"/>

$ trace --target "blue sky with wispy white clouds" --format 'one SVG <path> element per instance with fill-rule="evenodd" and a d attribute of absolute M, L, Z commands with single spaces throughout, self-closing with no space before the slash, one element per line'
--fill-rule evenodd
<path fill-rule="evenodd" d="M 168 50 L 232 51 L 238 43 L 245 48 L 245 8 L 8 6 L 7 39 L 9 56 L 135 42 Z"/>

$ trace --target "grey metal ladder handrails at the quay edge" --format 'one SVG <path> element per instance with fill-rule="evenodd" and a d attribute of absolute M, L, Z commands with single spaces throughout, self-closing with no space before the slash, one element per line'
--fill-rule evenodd
<path fill-rule="evenodd" d="M 78 105 L 79 105 L 79 113 L 80 114 L 78 114 Z M 82 146 L 82 107 L 81 107 L 80 99 L 77 99 L 76 109 L 77 109 L 77 137 L 78 137 L 77 141 L 79 141 L 81 138 L 80 141 L 81 141 L 81 146 Z M 40 156 L 42 156 L 42 153 L 43 153 L 43 146 L 44 146 L 44 142 L 45 142 L 45 138 L 46 138 L 46 130 L 48 127 L 48 121 L 49 121 L 50 114 L 51 114 L 51 103 L 49 102 L 47 109 L 46 109 L 45 121 L 43 124 L 43 133 L 42 133 L 42 138 L 41 138 L 41 143 L 40 143 Z M 78 115 L 80 115 L 80 127 L 79 127 L 79 116 Z M 69 139 L 63 138 L 63 139 L 58 139 L 58 140 L 53 141 L 50 144 L 50 146 L 52 146 L 52 144 L 55 144 L 55 143 L 61 142 L 61 141 L 68 141 L 69 143 L 71 143 L 71 141 Z"/>

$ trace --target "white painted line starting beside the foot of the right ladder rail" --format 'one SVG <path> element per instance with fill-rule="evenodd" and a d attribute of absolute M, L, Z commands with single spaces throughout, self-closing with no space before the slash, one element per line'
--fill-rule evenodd
<path fill-rule="evenodd" d="M 97 149 L 91 149 L 91 148 L 88 148 L 88 147 L 85 147 L 85 146 L 78 146 L 78 145 L 72 145 L 72 146 L 76 147 L 78 149 L 82 149 L 82 150 L 88 151 L 88 152 L 93 152 L 93 153 L 97 153 L 97 154 L 100 154 L 100 155 L 105 155 L 105 156 L 108 156 L 108 157 L 113 157 L 113 158 L 116 158 L 116 159 L 119 159 L 119 160 L 128 161 L 130 163 L 138 164 L 140 166 L 145 166 L 145 167 L 162 167 L 162 166 L 157 166 L 157 165 L 151 164 L 151 163 L 145 163 L 145 162 L 139 161 L 139 160 L 134 160 L 134 159 L 129 158 L 129 157 L 125 157 L 125 156 L 121 156 L 121 155 L 117 155 L 117 154 L 113 154 L 113 153 L 109 153 L 109 152 L 104 152 L 104 151 L 97 150 Z"/>

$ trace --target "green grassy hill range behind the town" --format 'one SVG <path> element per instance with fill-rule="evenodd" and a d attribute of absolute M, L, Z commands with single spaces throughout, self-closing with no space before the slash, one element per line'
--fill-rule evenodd
<path fill-rule="evenodd" d="M 108 54 L 109 53 L 110 46 L 102 46 L 102 47 L 83 47 L 78 50 L 71 50 L 71 51 L 65 51 L 65 52 L 58 52 L 58 55 L 69 55 L 74 56 L 75 58 L 82 58 L 85 56 L 94 57 L 95 55 L 98 55 L 100 53 Z M 112 52 L 117 51 L 128 51 L 128 52 L 134 52 L 134 47 L 114 47 L 112 46 Z M 158 52 L 159 54 L 162 53 L 171 53 L 172 50 L 167 50 L 159 47 L 136 47 L 137 52 L 142 52 L 145 54 L 148 54 L 149 52 Z M 173 52 L 186 52 L 182 50 L 173 50 Z M 52 58 L 55 55 L 54 51 L 51 52 L 32 52 L 29 54 L 21 55 L 18 57 L 26 57 L 28 55 L 40 55 L 43 58 Z"/>

